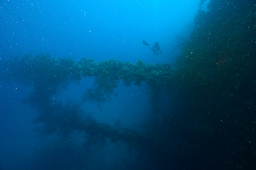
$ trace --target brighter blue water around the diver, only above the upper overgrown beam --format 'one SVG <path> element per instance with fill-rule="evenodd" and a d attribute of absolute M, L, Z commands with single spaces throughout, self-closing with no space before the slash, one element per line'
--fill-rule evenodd
<path fill-rule="evenodd" d="M 198 1 L 2 1 L 1 56 L 51 53 L 136 62 L 171 62 L 177 36 L 192 27 Z M 185 29 L 187 28 L 187 29 Z M 162 56 L 153 56 L 158 41 Z"/>

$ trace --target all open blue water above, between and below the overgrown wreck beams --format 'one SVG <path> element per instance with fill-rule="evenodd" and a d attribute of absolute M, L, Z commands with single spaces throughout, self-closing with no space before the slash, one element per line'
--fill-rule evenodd
<path fill-rule="evenodd" d="M 52 57 L 118 59 L 122 62 L 172 63 L 179 56 L 180 41 L 187 40 L 199 10 L 196 1 L 1 1 L 0 62 L 22 54 L 50 53 Z M 208 3 L 205 2 L 205 3 Z M 205 6 L 203 6 L 203 9 Z M 162 55 L 154 56 L 156 41 Z M 1 73 L 6 70 L 1 70 Z M 52 101 L 79 103 L 97 122 L 143 133 L 158 117 L 148 96 L 148 86 L 115 88 L 101 104 L 81 103 L 94 78 L 82 78 L 51 96 Z M 74 131 L 68 138 L 43 134 L 35 124 L 38 110 L 22 102 L 34 91 L 30 84 L 0 81 L 0 169 L 148 169 L 140 148 L 125 142 L 101 145 L 87 142 Z M 162 94 L 161 109 L 171 109 L 172 99 Z M 191 125 L 192 126 L 192 125 Z M 90 145 L 88 144 L 90 143 Z"/>

